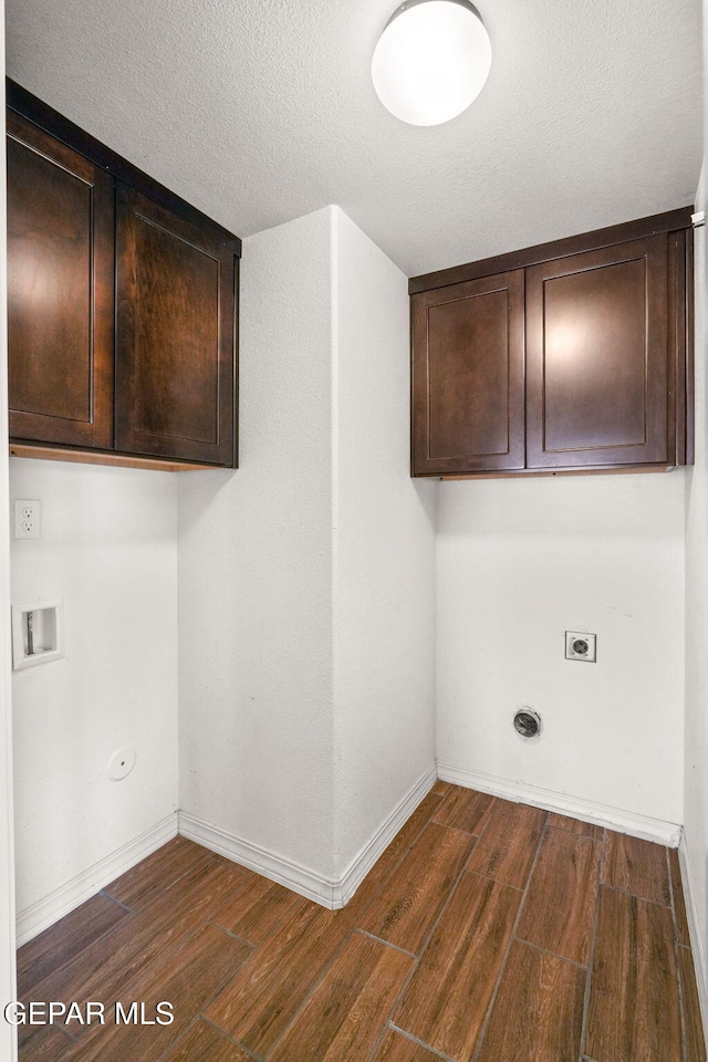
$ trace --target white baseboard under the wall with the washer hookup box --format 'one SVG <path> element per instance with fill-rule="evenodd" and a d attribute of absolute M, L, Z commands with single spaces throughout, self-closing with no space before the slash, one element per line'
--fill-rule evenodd
<path fill-rule="evenodd" d="M 42 899 L 20 910 L 17 917 L 17 945 L 21 947 L 43 929 L 63 918 L 74 907 L 90 899 L 95 893 L 125 874 L 132 866 L 177 836 L 177 812 L 173 812 L 138 837 L 128 841 L 111 855 L 82 871 L 65 885 L 61 885 Z"/>

